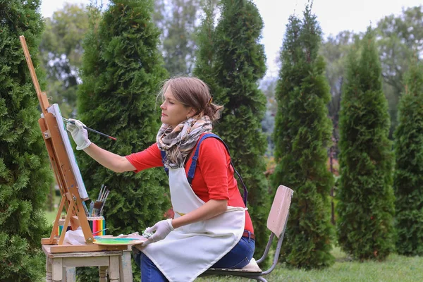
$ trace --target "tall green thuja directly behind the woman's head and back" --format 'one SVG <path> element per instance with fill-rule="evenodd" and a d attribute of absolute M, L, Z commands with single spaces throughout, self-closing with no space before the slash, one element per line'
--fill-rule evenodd
<path fill-rule="evenodd" d="M 203 35 L 203 39 L 212 39 L 213 49 L 204 50 L 200 62 L 206 62 L 200 65 L 211 66 L 210 72 L 197 69 L 195 73 L 209 83 L 216 104 L 225 107 L 215 132 L 228 145 L 235 168 L 249 189 L 247 207 L 257 237 L 256 252 L 262 254 L 269 213 L 263 159 L 266 137 L 260 124 L 266 98 L 258 89 L 258 80 L 266 71 L 264 47 L 259 44 L 263 21 L 252 1 L 223 0 L 220 8 L 221 18 L 214 34 Z M 242 188 L 240 181 L 238 186 Z"/>

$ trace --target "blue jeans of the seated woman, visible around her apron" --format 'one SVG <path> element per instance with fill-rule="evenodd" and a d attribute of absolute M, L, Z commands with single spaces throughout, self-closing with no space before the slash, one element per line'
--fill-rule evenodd
<path fill-rule="evenodd" d="M 255 250 L 255 240 L 247 237 L 241 237 L 238 244 L 233 247 L 226 255 L 224 255 L 212 267 L 242 269 L 252 259 Z M 142 282 L 168 282 L 157 266 L 149 257 L 139 252 L 135 255 L 135 262 L 141 269 Z"/>

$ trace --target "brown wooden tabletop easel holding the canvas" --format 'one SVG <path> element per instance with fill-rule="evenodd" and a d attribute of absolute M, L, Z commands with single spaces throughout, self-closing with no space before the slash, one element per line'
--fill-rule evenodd
<path fill-rule="evenodd" d="M 83 200 L 87 199 L 80 198 L 78 184 L 75 180 L 75 176 L 71 169 L 71 162 L 69 160 L 68 154 L 66 153 L 65 145 L 63 144 L 63 140 L 59 132 L 59 125 L 56 121 L 56 117 L 47 111 L 50 104 L 47 99 L 47 94 L 45 92 L 41 92 L 39 87 L 39 82 L 37 80 L 34 66 L 32 65 L 30 52 L 27 49 L 25 37 L 21 35 L 19 39 L 20 44 L 22 44 L 23 53 L 25 54 L 28 68 L 30 69 L 30 75 L 35 86 L 35 91 L 37 92 L 39 106 L 41 106 L 43 114 L 43 117 L 39 118 L 38 120 L 39 128 L 41 128 L 42 137 L 44 138 L 47 152 L 49 153 L 51 167 L 53 168 L 54 176 L 56 177 L 56 182 L 59 185 L 61 192 L 61 202 L 59 204 L 59 210 L 56 214 L 56 219 L 54 220 L 50 238 L 43 238 L 41 240 L 42 245 L 52 245 L 50 247 L 51 252 L 125 250 L 127 246 L 104 246 L 93 244 L 94 238 L 92 236 L 90 224 L 87 221 L 87 215 L 85 214 L 85 209 L 82 203 Z M 63 232 L 61 233 L 60 238 L 57 239 L 54 238 L 54 235 L 56 229 L 59 226 L 59 219 L 61 217 L 63 208 L 66 209 L 66 219 L 63 223 Z M 63 245 L 68 223 L 71 223 L 72 230 L 76 230 L 78 227 L 82 228 L 82 233 L 84 233 L 85 237 L 85 245 Z"/>

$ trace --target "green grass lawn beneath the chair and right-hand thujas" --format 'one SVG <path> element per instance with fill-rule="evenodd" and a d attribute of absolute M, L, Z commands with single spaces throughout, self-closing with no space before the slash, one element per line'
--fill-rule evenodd
<path fill-rule="evenodd" d="M 271 274 L 264 276 L 267 281 L 305 282 L 415 282 L 423 281 L 423 257 L 403 257 L 390 255 L 385 262 L 351 262 L 345 253 L 336 247 L 332 254 L 336 262 L 328 269 L 305 271 L 301 269 L 288 269 L 283 264 L 276 266 Z M 247 282 L 255 281 L 235 277 L 204 277 L 196 281 L 201 282 Z"/>

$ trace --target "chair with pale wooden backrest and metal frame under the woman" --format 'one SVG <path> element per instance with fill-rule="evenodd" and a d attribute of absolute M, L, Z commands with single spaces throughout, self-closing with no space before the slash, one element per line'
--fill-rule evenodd
<path fill-rule="evenodd" d="M 250 264 L 245 266 L 243 269 L 218 269 L 210 268 L 207 269 L 200 276 L 210 276 L 210 275 L 226 275 L 226 276 L 241 276 L 245 278 L 255 279 L 257 281 L 264 281 L 263 276 L 271 273 L 275 269 L 276 264 L 278 263 L 279 253 L 281 252 L 283 234 L 285 233 L 286 222 L 288 221 L 289 207 L 291 198 L 293 197 L 293 190 L 290 188 L 279 185 L 276 195 L 274 197 L 274 202 L 271 205 L 269 217 L 267 218 L 267 228 L 271 231 L 269 241 L 266 245 L 266 250 L 264 250 L 263 256 L 257 261 L 252 258 Z M 274 254 L 273 264 L 266 271 L 262 271 L 258 264 L 266 259 L 269 254 L 271 243 L 274 240 L 274 237 L 278 238 L 278 244 L 276 246 L 276 251 Z"/>

